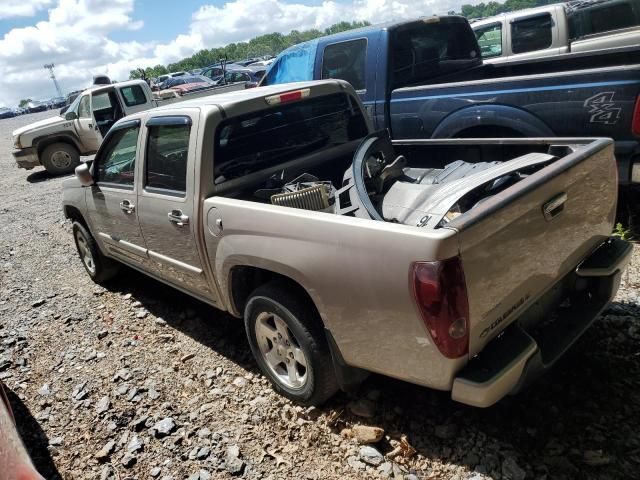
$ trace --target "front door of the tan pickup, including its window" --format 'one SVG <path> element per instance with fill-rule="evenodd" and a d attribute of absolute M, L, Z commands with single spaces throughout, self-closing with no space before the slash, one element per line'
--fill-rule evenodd
<path fill-rule="evenodd" d="M 138 224 L 136 163 L 140 122 L 109 132 L 93 162 L 95 184 L 87 194 L 91 230 L 105 253 L 136 267 L 147 265 Z"/>

